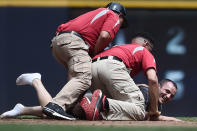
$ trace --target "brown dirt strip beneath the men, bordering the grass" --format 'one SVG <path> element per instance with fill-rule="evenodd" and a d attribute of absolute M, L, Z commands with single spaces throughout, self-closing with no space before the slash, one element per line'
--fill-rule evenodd
<path fill-rule="evenodd" d="M 66 121 L 52 119 L 0 119 L 0 124 L 30 124 L 30 125 L 84 125 L 84 126 L 183 126 L 197 127 L 197 122 L 172 121 Z"/>

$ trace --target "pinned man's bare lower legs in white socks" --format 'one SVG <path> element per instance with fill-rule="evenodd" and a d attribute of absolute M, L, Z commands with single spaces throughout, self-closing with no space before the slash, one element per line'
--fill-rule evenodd
<path fill-rule="evenodd" d="M 42 81 L 41 81 L 41 75 L 39 73 L 22 74 L 16 79 L 16 84 L 17 85 L 32 85 L 37 92 L 38 100 L 42 107 L 45 106 L 52 99 L 51 95 L 44 88 Z M 41 106 L 25 107 L 22 104 L 16 104 L 16 106 L 12 110 L 3 113 L 1 117 L 2 118 L 16 117 L 19 115 L 43 116 Z"/>

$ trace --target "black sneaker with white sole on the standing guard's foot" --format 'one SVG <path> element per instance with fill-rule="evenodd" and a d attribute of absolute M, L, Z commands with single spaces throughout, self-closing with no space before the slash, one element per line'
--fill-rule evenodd
<path fill-rule="evenodd" d="M 60 119 L 60 120 L 76 120 L 75 117 L 72 115 L 67 114 L 62 107 L 55 103 L 49 102 L 42 110 L 42 112 L 54 119 Z"/>

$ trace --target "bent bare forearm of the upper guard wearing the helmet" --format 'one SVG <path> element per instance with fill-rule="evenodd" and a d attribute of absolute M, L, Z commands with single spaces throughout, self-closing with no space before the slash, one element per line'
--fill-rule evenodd
<path fill-rule="evenodd" d="M 96 42 L 96 45 L 93 50 L 93 56 L 97 55 L 98 53 L 102 52 L 105 47 L 111 42 L 111 36 L 107 31 L 101 31 L 99 38 Z"/>

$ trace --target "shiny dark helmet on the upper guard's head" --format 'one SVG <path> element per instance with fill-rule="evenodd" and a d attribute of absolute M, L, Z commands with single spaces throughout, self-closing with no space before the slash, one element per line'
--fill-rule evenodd
<path fill-rule="evenodd" d="M 119 14 L 120 17 L 123 17 L 124 21 L 123 21 L 123 24 L 122 24 L 121 28 L 127 27 L 127 19 L 126 19 L 127 12 L 126 12 L 126 9 L 124 8 L 123 5 L 121 5 L 117 2 L 111 2 L 106 6 L 106 8 L 108 8 L 108 9 L 112 10 L 113 12 Z"/>

